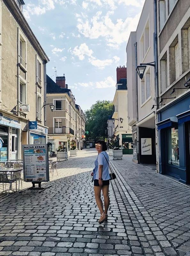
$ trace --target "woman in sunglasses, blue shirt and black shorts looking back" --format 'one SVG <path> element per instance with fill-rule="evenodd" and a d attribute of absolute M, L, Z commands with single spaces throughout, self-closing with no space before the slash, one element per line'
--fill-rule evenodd
<path fill-rule="evenodd" d="M 98 140 L 95 144 L 96 150 L 98 151 L 98 156 L 94 162 L 95 167 L 91 176 L 93 176 L 92 181 L 94 181 L 94 195 L 96 198 L 96 203 L 100 211 L 99 224 L 107 221 L 107 211 L 109 208 L 109 156 L 106 153 L 107 146 L 106 142 L 103 140 Z M 101 191 L 104 196 L 104 207 L 101 199 Z"/>

